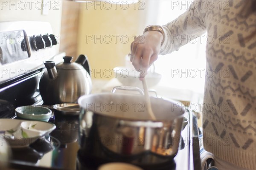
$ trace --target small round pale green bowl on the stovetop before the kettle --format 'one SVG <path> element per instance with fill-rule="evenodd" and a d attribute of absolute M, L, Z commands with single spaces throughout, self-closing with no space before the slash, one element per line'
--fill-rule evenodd
<path fill-rule="evenodd" d="M 48 108 L 37 105 L 20 106 L 15 109 L 17 117 L 28 120 L 39 120 L 48 122 L 52 111 Z"/>

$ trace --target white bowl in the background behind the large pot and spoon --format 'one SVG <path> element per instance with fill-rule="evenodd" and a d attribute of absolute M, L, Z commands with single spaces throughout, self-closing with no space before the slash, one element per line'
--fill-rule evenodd
<path fill-rule="evenodd" d="M 125 68 L 125 67 L 116 67 L 113 69 L 115 72 L 115 77 L 118 79 L 122 85 L 134 86 L 138 88 L 143 88 L 142 82 L 140 81 L 140 73 L 135 69 Z M 161 74 L 156 72 L 148 72 L 146 75 L 146 81 L 148 88 L 154 87 L 157 85 L 162 78 Z"/>

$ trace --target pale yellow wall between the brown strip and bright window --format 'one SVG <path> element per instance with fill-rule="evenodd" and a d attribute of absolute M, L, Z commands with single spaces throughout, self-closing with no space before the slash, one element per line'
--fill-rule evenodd
<path fill-rule="evenodd" d="M 130 52 L 134 35 L 143 33 L 145 11 L 144 2 L 129 6 L 112 4 L 111 7 L 100 2 L 81 3 L 78 54 L 86 54 L 91 69 L 94 73 L 98 72 L 92 74 L 92 78 L 109 79 L 108 69 L 113 70 L 114 67 L 125 64 L 125 55 Z M 128 41 L 125 37 L 128 37 Z"/>

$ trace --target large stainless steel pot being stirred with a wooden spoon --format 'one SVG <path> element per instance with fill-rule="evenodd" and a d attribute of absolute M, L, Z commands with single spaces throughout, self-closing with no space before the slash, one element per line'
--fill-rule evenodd
<path fill-rule="evenodd" d="M 151 97 L 156 121 L 150 119 L 142 95 L 90 94 L 78 103 L 82 108 L 79 143 L 85 153 L 97 156 L 93 148 L 101 146 L 120 156 L 153 153 L 173 158 L 178 151 L 185 112 L 180 102 Z"/>

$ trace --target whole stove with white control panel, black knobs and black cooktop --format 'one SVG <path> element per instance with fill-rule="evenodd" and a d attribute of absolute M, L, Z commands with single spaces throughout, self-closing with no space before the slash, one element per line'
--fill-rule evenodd
<path fill-rule="evenodd" d="M 49 23 L 6 22 L 0 24 L 0 31 L 0 118 L 17 119 L 15 108 L 43 104 L 38 85 L 45 70 L 43 61 L 59 63 L 65 54 L 57 52 L 58 42 Z M 201 169 L 197 120 L 194 113 L 187 109 L 184 116 L 189 122 L 181 132 L 179 151 L 174 159 L 164 164 L 151 164 L 150 167 L 143 165 L 144 169 Z M 96 170 L 100 164 L 126 161 L 116 159 L 115 155 L 106 153 L 100 146 L 98 152 L 105 154 L 101 158 L 81 152 L 78 142 L 79 116 L 53 111 L 49 122 L 56 125 L 49 136 L 38 139 L 29 147 L 11 149 L 12 157 L 8 162 L 11 168 Z M 156 159 L 161 162 L 161 158 Z"/>

